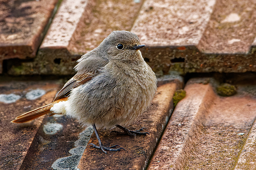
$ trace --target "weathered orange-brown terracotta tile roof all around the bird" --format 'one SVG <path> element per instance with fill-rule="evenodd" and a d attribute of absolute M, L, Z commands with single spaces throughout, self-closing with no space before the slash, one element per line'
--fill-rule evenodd
<path fill-rule="evenodd" d="M 256 169 L 255 11 L 254 0 L 1 0 L 0 169 Z M 105 155 L 74 119 L 10 123 L 52 102 L 61 76 L 112 30 L 136 33 L 159 77 L 152 107 L 129 126 L 150 135 L 99 129 L 103 144 L 126 149 Z M 218 95 L 231 90 L 223 83 L 235 95 Z"/>

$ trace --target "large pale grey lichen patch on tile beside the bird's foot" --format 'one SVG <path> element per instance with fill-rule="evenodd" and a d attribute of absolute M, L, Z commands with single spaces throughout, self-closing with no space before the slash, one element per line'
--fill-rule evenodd
<path fill-rule="evenodd" d="M 74 144 L 75 147 L 69 150 L 69 153 L 72 155 L 57 159 L 52 164 L 52 168 L 55 170 L 79 170 L 77 168 L 78 163 L 91 138 L 92 133 L 93 128 L 91 126 L 83 130 L 83 132 L 79 134 L 79 139 Z"/>

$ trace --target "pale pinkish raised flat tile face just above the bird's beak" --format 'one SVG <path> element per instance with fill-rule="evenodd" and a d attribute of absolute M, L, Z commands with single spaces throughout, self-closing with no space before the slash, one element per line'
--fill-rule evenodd
<path fill-rule="evenodd" d="M 214 4 L 215 0 L 146 0 L 131 31 L 150 47 L 197 45 Z"/>

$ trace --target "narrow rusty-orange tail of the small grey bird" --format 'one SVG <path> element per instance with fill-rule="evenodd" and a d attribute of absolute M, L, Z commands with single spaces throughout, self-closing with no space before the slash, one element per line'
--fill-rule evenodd
<path fill-rule="evenodd" d="M 34 110 L 31 110 L 29 112 L 26 112 L 24 114 L 21 114 L 19 115 L 18 117 L 16 117 L 13 121 L 11 121 L 12 123 L 24 123 L 24 122 L 27 122 L 27 121 L 31 121 L 33 119 L 36 119 L 40 116 L 43 116 L 47 113 L 50 113 L 50 109 L 51 107 L 56 104 L 57 102 L 60 102 L 60 101 L 66 101 L 68 98 L 65 97 L 65 98 L 61 98 L 59 100 L 56 100 L 55 102 L 52 102 L 50 103 L 49 105 L 45 105 L 45 106 L 42 106 L 42 107 L 39 107 L 37 109 L 34 109 Z M 52 116 L 53 114 L 51 114 Z"/>

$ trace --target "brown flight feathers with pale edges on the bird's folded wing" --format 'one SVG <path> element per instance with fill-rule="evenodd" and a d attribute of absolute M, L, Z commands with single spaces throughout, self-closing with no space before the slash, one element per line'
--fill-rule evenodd
<path fill-rule="evenodd" d="M 72 77 L 68 82 L 66 82 L 66 84 L 64 84 L 64 86 L 56 95 L 53 101 L 59 100 L 64 97 L 68 97 L 73 88 L 76 88 L 81 84 L 88 82 L 94 76 L 95 74 L 92 74 L 92 73 L 74 75 L 74 77 Z"/>

